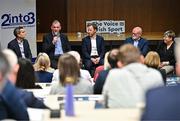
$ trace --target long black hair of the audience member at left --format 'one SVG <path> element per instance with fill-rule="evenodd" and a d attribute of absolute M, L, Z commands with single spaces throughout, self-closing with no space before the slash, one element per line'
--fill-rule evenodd
<path fill-rule="evenodd" d="M 16 86 L 23 89 L 35 88 L 35 73 L 30 60 L 20 58 L 18 60 L 19 71 L 17 74 Z"/>

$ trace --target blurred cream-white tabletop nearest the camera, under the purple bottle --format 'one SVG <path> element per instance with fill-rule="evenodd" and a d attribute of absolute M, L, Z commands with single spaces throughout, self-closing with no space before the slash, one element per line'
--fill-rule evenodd
<path fill-rule="evenodd" d="M 75 116 L 65 116 L 65 111 L 61 110 L 60 118 L 50 118 L 50 112 L 45 110 L 39 120 L 43 121 L 139 121 L 141 109 L 139 108 L 120 108 L 120 109 L 94 109 L 89 102 L 78 101 L 75 104 Z M 38 120 L 38 111 L 33 111 L 33 120 Z M 37 115 L 37 116 L 36 116 Z"/>

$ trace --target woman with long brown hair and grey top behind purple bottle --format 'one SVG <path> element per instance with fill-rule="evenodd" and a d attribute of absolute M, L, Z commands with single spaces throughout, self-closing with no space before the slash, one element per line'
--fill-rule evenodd
<path fill-rule="evenodd" d="M 59 58 L 58 68 L 60 81 L 51 87 L 50 94 L 65 94 L 66 77 L 73 77 L 74 94 L 92 94 L 93 88 L 89 81 L 80 77 L 77 60 L 70 54 L 63 54 Z"/>

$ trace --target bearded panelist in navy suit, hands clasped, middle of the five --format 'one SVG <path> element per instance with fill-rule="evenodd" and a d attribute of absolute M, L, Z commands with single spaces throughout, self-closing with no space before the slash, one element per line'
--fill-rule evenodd
<path fill-rule="evenodd" d="M 96 31 L 96 24 L 88 24 L 88 36 L 82 39 L 83 63 L 92 76 L 95 68 L 104 64 L 104 38 L 96 35 Z"/>

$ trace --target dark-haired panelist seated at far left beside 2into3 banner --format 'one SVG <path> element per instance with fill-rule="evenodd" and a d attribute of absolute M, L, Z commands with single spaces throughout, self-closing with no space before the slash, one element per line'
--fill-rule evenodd
<path fill-rule="evenodd" d="M 14 29 L 14 36 L 16 38 L 8 43 L 8 48 L 13 50 L 18 58 L 27 58 L 31 60 L 31 49 L 28 41 L 25 39 L 26 31 L 24 27 L 16 27 Z"/>

